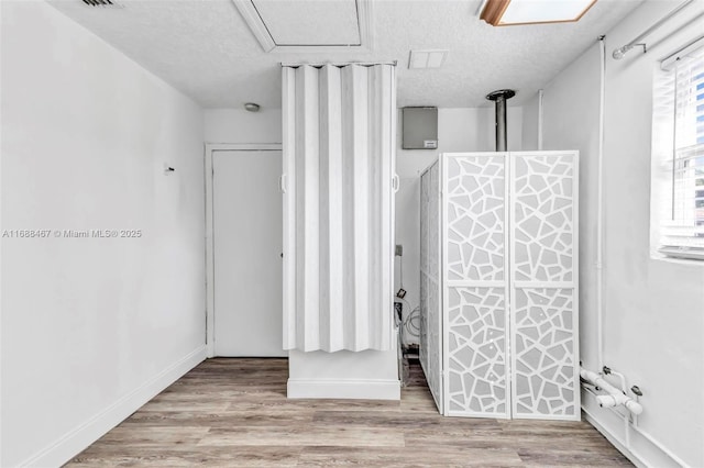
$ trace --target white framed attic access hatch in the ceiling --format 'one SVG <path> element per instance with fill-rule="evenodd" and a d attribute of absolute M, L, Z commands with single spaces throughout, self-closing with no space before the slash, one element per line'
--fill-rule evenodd
<path fill-rule="evenodd" d="M 369 0 L 233 0 L 265 52 L 364 52 Z"/>

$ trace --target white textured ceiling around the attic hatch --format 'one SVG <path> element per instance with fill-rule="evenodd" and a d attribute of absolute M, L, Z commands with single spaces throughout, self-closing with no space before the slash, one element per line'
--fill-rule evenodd
<path fill-rule="evenodd" d="M 598 0 L 578 23 L 493 27 L 477 18 L 481 0 L 372 0 L 371 53 L 296 54 L 264 53 L 231 0 L 51 3 L 206 108 L 279 108 L 279 63 L 354 60 L 398 60 L 399 107 L 465 108 L 502 88 L 515 104 L 530 98 L 641 1 Z M 323 27 L 330 9 L 320 11 Z M 449 53 L 440 69 L 408 69 L 410 49 Z"/>

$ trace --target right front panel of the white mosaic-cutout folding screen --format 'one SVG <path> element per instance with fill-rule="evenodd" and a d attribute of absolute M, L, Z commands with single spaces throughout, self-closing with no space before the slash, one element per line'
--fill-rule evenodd
<path fill-rule="evenodd" d="M 579 154 L 510 155 L 512 413 L 575 421 Z"/>

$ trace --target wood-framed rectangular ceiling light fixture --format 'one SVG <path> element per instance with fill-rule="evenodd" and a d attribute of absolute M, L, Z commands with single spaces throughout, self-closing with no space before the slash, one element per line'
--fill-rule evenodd
<path fill-rule="evenodd" d="M 596 0 L 484 0 L 480 19 L 493 26 L 580 21 Z"/>

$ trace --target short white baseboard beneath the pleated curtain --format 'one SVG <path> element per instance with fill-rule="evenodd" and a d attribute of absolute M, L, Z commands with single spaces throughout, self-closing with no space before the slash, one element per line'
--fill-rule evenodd
<path fill-rule="evenodd" d="M 288 379 L 288 398 L 400 400 L 398 380 Z"/>

